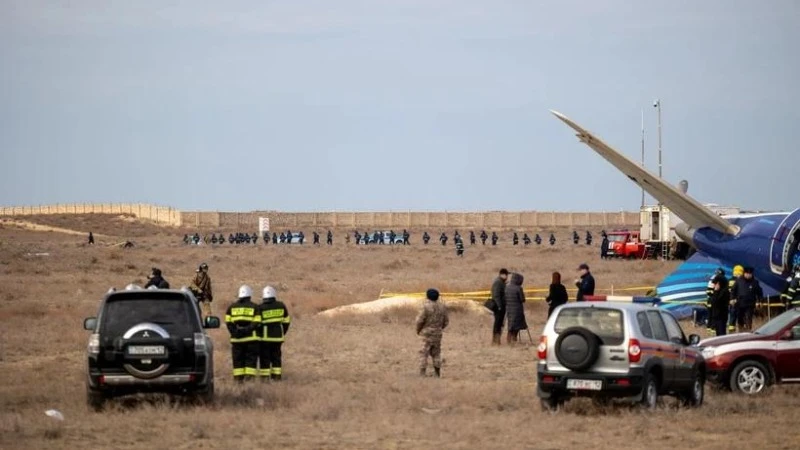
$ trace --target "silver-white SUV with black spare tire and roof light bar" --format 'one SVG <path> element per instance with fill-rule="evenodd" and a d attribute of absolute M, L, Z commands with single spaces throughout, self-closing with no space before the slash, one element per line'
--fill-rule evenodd
<path fill-rule="evenodd" d="M 700 337 L 687 339 L 669 312 L 637 303 L 558 307 L 538 347 L 537 395 L 545 410 L 576 396 L 625 398 L 653 408 L 659 395 L 703 403 Z"/>

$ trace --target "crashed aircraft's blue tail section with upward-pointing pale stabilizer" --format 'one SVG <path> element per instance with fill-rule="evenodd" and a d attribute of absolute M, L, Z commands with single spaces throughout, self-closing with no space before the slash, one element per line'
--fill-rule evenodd
<path fill-rule="evenodd" d="M 753 267 L 764 295 L 779 295 L 800 257 L 800 208 L 791 212 L 719 216 L 697 200 L 665 183 L 565 115 L 550 111 L 578 134 L 578 139 L 674 212 L 683 223 L 675 233 L 697 251 L 656 288 L 663 302 L 705 301 L 714 270 L 731 277 L 733 267 Z"/>

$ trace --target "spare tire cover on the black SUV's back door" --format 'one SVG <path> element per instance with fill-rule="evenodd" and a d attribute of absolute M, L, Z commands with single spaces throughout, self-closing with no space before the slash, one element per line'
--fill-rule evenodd
<path fill-rule="evenodd" d="M 129 345 L 163 346 L 163 355 L 130 355 Z M 123 367 L 136 378 L 152 379 L 161 376 L 169 368 L 170 336 L 167 330 L 154 323 L 140 323 L 131 327 L 122 336 L 125 358 Z"/>

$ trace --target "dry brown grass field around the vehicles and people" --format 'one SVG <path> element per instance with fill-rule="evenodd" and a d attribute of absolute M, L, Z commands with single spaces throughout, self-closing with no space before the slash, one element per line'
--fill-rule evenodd
<path fill-rule="evenodd" d="M 500 267 L 523 273 L 527 286 L 544 287 L 551 271 L 561 271 L 570 281 L 575 267 L 588 262 L 599 288 L 618 288 L 652 285 L 675 263 L 600 261 L 597 246 L 564 241 L 555 249 L 524 249 L 507 241 L 497 248 L 467 245 L 465 256 L 457 258 L 451 245 L 422 247 L 418 236 L 411 247 L 348 246 L 341 239 L 343 231 L 332 248 L 185 247 L 179 242 L 184 230 L 130 219 L 24 220 L 79 231 L 91 228 L 109 236 L 99 243 L 133 239 L 136 247 L 87 247 L 84 237 L 0 228 L 2 449 L 800 446 L 797 388 L 777 387 L 761 399 L 709 392 L 706 405 L 698 410 L 679 409 L 671 399 L 655 412 L 600 409 L 588 401 L 574 401 L 563 411 L 547 414 L 535 395 L 535 347 L 491 347 L 488 312 L 466 312 L 453 304 L 452 325 L 443 342 L 442 379 L 417 376 L 414 310 L 315 316 L 334 306 L 374 300 L 381 290 L 486 289 Z M 152 266 L 160 267 L 178 287 L 189 283 L 203 261 L 210 266 L 217 313 L 242 283 L 258 291 L 267 283 L 278 288 L 294 316 L 284 346 L 285 381 L 234 386 L 226 332 L 213 330 L 218 391 L 214 406 L 148 398 L 90 412 L 84 402 L 88 334 L 82 329 L 83 318 L 96 313 L 110 286 L 143 283 Z M 545 310 L 541 302 L 529 302 L 534 340 Z M 684 327 L 700 332 L 689 324 Z M 45 416 L 50 408 L 66 419 Z"/>

